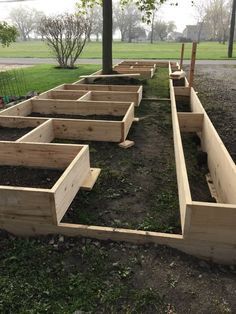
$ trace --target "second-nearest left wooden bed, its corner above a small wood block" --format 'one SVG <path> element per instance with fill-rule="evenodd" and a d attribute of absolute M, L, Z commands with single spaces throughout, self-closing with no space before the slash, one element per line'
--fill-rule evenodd
<path fill-rule="evenodd" d="M 66 138 L 124 142 L 134 121 L 134 104 L 34 98 L 0 115 L 56 118 L 56 128 Z"/>

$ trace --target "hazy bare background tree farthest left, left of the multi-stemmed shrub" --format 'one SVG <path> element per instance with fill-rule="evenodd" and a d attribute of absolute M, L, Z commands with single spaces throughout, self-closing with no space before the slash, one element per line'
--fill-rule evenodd
<path fill-rule="evenodd" d="M 22 40 L 30 39 L 30 33 L 37 31 L 39 18 L 43 13 L 36 9 L 31 9 L 26 6 L 18 6 L 11 10 L 10 19 L 14 26 L 18 29 Z"/>

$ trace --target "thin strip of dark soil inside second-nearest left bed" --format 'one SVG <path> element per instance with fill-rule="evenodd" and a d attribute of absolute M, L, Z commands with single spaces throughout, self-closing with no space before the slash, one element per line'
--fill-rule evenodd
<path fill-rule="evenodd" d="M 80 119 L 80 120 L 106 120 L 106 121 L 122 121 L 124 116 L 112 116 L 112 115 L 69 115 L 69 114 L 46 114 L 32 112 L 28 117 L 47 117 L 47 118 L 59 118 L 59 119 Z"/>

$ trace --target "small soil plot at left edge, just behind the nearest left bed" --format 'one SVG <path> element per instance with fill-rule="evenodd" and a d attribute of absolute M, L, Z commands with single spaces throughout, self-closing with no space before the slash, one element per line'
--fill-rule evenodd
<path fill-rule="evenodd" d="M 16 141 L 44 121 L 46 120 L 0 116 L 0 141 Z"/>

